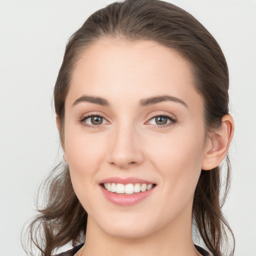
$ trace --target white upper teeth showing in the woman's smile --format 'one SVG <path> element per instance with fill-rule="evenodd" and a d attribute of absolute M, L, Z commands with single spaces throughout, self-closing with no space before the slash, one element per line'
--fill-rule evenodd
<path fill-rule="evenodd" d="M 138 192 L 144 192 L 153 187 L 153 184 L 136 183 L 136 184 L 121 184 L 121 183 L 104 183 L 105 189 L 111 192 L 122 193 L 122 194 L 133 194 Z"/>

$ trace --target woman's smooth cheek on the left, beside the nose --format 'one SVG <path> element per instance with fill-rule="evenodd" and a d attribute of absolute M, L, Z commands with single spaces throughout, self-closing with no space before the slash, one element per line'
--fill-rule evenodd
<path fill-rule="evenodd" d="M 82 128 L 65 127 L 65 153 L 71 181 L 77 195 L 95 189 L 95 175 L 105 155 L 105 143 L 98 134 L 86 134 Z M 85 196 L 85 194 L 83 195 Z"/>

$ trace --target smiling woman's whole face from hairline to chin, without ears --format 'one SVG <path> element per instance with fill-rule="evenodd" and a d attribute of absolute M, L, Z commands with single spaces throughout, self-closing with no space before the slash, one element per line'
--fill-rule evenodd
<path fill-rule="evenodd" d="M 95 227 L 142 237 L 189 226 L 208 143 L 202 98 L 175 51 L 104 38 L 78 60 L 65 101 L 65 160 Z"/>

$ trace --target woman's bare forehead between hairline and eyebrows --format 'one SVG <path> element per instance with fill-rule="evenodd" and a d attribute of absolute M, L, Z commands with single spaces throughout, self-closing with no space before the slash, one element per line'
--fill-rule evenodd
<path fill-rule="evenodd" d="M 201 100 L 190 63 L 175 50 L 155 41 L 116 38 L 102 38 L 79 56 L 68 98 L 82 94 L 103 94 L 109 100 L 122 97 L 128 102 L 157 94 Z"/>

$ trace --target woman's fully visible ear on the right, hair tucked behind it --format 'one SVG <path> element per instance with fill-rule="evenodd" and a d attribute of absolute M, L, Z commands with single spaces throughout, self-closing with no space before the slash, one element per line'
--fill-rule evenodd
<path fill-rule="evenodd" d="M 231 115 L 226 114 L 221 119 L 220 127 L 212 131 L 205 147 L 205 155 L 201 168 L 210 170 L 217 167 L 225 158 L 227 149 L 234 133 L 234 122 Z"/>

